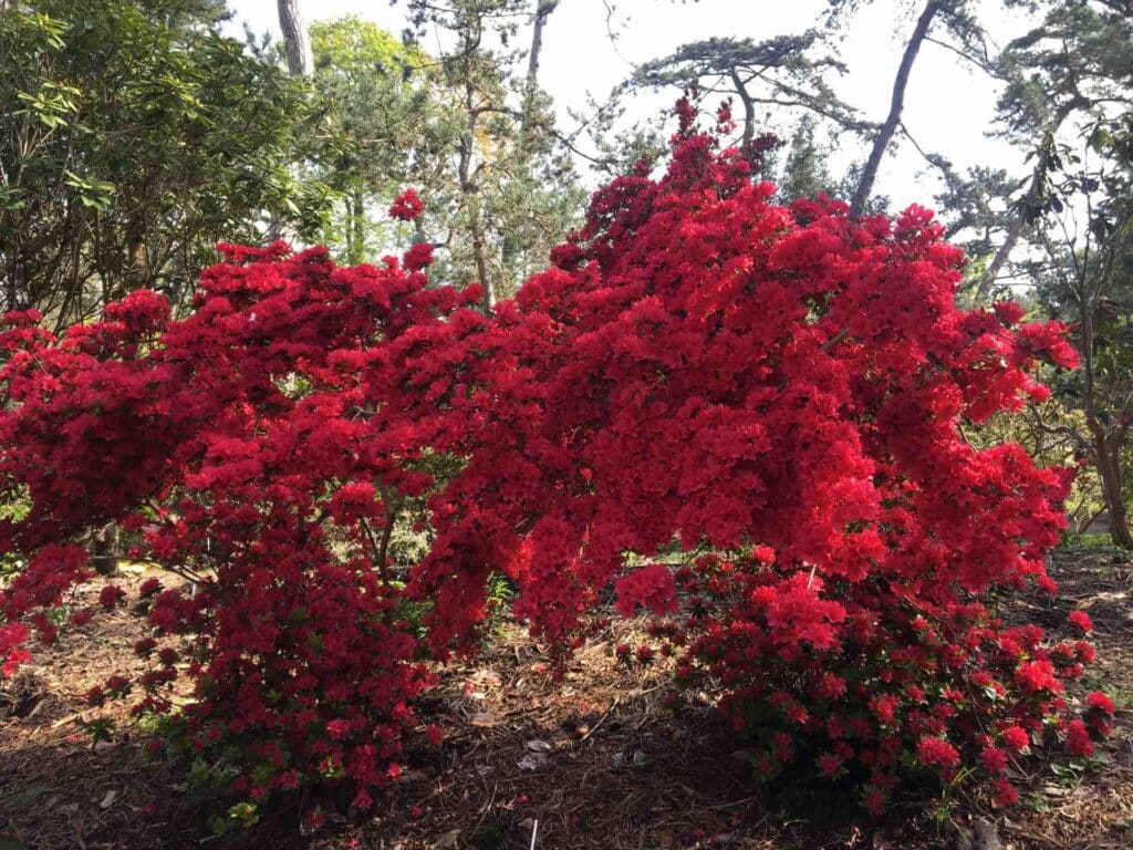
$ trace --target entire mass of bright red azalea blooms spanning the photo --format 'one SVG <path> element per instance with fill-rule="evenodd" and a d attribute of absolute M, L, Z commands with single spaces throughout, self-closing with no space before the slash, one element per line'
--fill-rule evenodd
<path fill-rule="evenodd" d="M 1088 645 L 987 606 L 1053 590 L 1070 473 L 959 430 L 1042 397 L 1038 364 L 1074 364 L 1062 329 L 957 309 L 962 256 L 927 211 L 778 206 L 757 168 L 682 104 L 666 173 L 600 189 L 491 316 L 478 288 L 428 284 L 421 246 L 355 269 L 224 246 L 182 321 L 150 292 L 58 340 L 9 316 L 0 481 L 32 509 L 0 522 L 27 558 L 0 597 L 7 664 L 18 623 L 50 639 L 44 609 L 88 575 L 66 542 L 120 520 L 191 584 L 144 588 L 157 663 L 105 690 L 172 712 L 254 799 L 344 776 L 367 805 L 416 724 L 418 658 L 475 647 L 494 571 L 560 648 L 612 583 L 623 613 L 671 615 L 680 679 L 722 689 L 760 770 L 850 773 L 874 807 L 909 764 L 977 767 L 1007 802 L 1008 753 L 1045 730 L 1085 751 L 1113 714 L 1067 716 Z M 410 505 L 432 545 L 402 585 Z M 708 554 L 674 569 L 674 541 Z"/>

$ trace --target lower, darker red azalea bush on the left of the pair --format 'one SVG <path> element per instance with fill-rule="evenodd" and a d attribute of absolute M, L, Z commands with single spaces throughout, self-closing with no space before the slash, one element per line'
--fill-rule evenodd
<path fill-rule="evenodd" d="M 167 715 L 172 743 L 253 799 L 344 777 L 365 808 L 400 772 L 411 700 L 432 679 L 387 554 L 406 500 L 433 483 L 421 447 L 448 449 L 468 418 L 455 399 L 434 422 L 459 391 L 434 385 L 428 364 L 457 358 L 475 380 L 461 338 L 485 320 L 461 309 L 477 294 L 429 289 L 392 257 L 337 269 L 323 249 L 222 250 L 184 321 L 146 291 L 58 340 L 34 315 L 8 317 L 0 476 L 32 508 L 0 522 L 0 550 L 28 556 L 0 595 L 5 670 L 26 652 L 20 620 L 50 641 L 46 610 L 92 575 L 60 542 L 119 520 L 140 535 L 131 555 L 176 580 L 140 588 L 153 639 L 135 649 L 150 672 L 88 699 L 133 692 L 137 713 Z M 99 602 L 122 597 L 111 585 Z"/>

